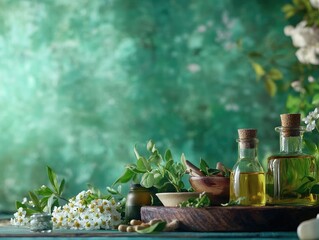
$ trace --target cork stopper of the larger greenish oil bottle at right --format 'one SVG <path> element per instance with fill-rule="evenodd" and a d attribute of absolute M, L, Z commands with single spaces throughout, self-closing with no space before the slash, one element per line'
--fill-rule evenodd
<path fill-rule="evenodd" d="M 280 115 L 282 133 L 284 136 L 299 136 L 300 135 L 300 114 L 286 113 Z"/>

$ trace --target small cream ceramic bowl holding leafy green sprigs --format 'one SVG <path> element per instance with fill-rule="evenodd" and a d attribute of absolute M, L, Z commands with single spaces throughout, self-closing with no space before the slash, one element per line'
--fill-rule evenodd
<path fill-rule="evenodd" d="M 156 196 L 165 207 L 177 207 L 181 202 L 190 198 L 197 198 L 199 194 L 198 192 L 167 192 L 156 193 Z"/>

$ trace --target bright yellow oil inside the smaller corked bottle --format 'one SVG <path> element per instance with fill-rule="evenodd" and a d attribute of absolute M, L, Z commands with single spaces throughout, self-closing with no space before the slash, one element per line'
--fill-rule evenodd
<path fill-rule="evenodd" d="M 265 174 L 263 172 L 231 173 L 230 201 L 240 205 L 265 206 Z"/>

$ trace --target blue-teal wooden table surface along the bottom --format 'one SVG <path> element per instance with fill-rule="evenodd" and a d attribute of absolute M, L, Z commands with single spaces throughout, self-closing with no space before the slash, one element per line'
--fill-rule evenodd
<path fill-rule="evenodd" d="M 10 225 L 0 216 L 0 238 L 10 239 L 298 239 L 296 232 L 161 232 L 152 234 L 122 233 L 117 230 L 53 230 L 51 233 L 34 233 L 28 228 Z"/>

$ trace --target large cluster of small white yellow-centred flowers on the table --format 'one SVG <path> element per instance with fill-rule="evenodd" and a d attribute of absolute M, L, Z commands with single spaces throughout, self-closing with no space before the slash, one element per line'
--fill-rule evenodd
<path fill-rule="evenodd" d="M 82 191 L 63 207 L 55 207 L 52 213 L 54 228 L 112 229 L 121 223 L 114 199 L 94 199 L 87 203 L 92 192 Z"/>

